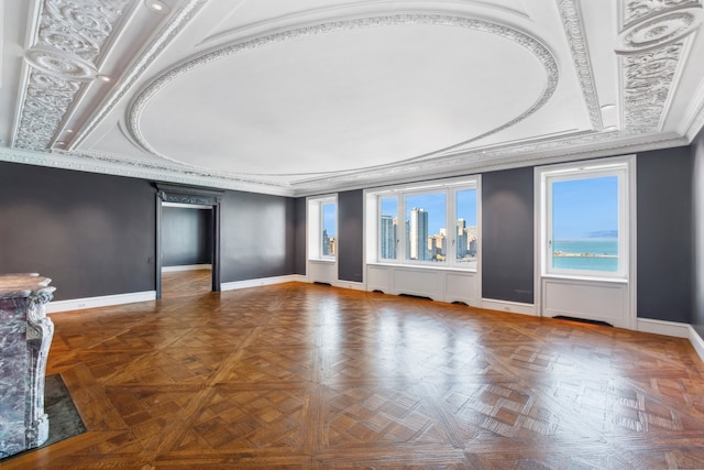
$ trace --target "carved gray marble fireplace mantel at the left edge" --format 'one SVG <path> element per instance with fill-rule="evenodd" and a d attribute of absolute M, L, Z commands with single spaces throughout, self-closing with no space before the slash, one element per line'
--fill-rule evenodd
<path fill-rule="evenodd" d="M 46 304 L 55 287 L 38 274 L 0 275 L 0 458 L 48 438 L 46 359 L 54 324 Z"/>

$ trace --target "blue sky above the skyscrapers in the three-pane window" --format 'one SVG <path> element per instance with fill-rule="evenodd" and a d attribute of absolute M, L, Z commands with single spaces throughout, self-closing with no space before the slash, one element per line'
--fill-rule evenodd
<path fill-rule="evenodd" d="M 457 193 L 458 215 L 452 219 L 452 227 L 457 219 L 464 219 L 466 227 L 476 226 L 476 190 L 468 189 Z M 410 219 L 413 208 L 421 208 L 428 212 L 428 234 L 440 233 L 447 229 L 447 201 L 444 194 L 424 194 L 406 196 L 406 219 Z M 396 198 L 382 198 L 382 214 L 395 216 L 397 212 Z"/>

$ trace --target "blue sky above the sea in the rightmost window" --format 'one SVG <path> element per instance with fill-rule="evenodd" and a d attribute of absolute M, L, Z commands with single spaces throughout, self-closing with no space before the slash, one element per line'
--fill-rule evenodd
<path fill-rule="evenodd" d="M 571 179 L 552 184 L 553 240 L 618 237 L 618 177 Z"/>

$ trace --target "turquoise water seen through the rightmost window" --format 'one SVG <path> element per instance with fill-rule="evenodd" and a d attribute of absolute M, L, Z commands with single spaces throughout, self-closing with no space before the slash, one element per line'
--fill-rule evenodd
<path fill-rule="evenodd" d="M 618 240 L 561 240 L 553 242 L 552 250 L 563 254 L 552 256 L 552 267 L 618 271 Z"/>

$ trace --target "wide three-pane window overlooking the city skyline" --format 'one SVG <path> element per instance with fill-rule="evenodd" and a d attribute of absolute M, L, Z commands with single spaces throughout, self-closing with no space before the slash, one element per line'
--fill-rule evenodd
<path fill-rule="evenodd" d="M 476 269 L 479 177 L 367 192 L 367 262 Z M 369 215 L 372 211 L 373 215 Z"/>

